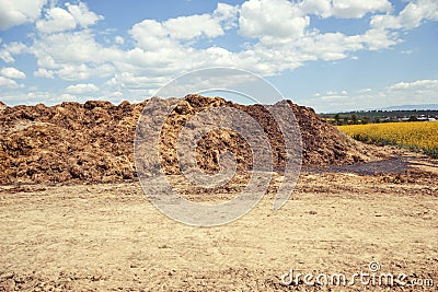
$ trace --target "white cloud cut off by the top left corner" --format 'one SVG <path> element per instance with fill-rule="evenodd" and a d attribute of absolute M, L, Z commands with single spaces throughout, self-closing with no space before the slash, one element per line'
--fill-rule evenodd
<path fill-rule="evenodd" d="M 34 22 L 47 0 L 0 0 L 0 31 Z"/>

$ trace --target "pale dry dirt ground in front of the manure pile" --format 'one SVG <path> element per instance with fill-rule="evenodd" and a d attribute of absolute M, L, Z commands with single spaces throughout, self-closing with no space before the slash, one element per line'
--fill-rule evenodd
<path fill-rule="evenodd" d="M 267 194 L 218 227 L 169 219 L 138 183 L 3 186 L 0 291 L 437 291 L 438 166 L 410 165 L 308 170 L 280 210 Z M 434 287 L 281 283 L 290 269 L 349 277 L 372 261 Z"/>

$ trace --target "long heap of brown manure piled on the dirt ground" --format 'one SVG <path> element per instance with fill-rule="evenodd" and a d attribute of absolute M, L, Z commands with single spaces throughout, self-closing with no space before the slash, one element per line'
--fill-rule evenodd
<path fill-rule="evenodd" d="M 9 107 L 0 102 L 0 184 L 136 179 L 132 142 L 146 103 L 113 105 L 90 101 L 50 107 L 43 104 Z M 184 101 L 161 100 L 160 103 L 162 110 L 180 103 L 169 116 L 161 136 L 160 159 L 168 174 L 180 173 L 176 145 L 182 127 L 196 113 L 218 106 L 241 109 L 257 120 L 270 142 L 274 167 L 284 167 L 284 139 L 266 107 L 243 106 L 200 95 L 188 95 Z M 343 135 L 312 108 L 288 103 L 301 130 L 303 165 L 344 165 L 384 156 L 378 148 Z M 234 153 L 238 168 L 251 168 L 252 152 L 247 143 L 229 130 L 215 130 L 201 139 L 196 150 L 199 167 L 217 172 L 218 157 L 227 150 Z"/>

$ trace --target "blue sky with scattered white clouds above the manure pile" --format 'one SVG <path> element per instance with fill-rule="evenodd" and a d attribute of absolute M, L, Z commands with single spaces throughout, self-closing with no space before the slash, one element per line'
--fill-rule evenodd
<path fill-rule="evenodd" d="M 436 0 L 0 0 L 0 39 L 8 105 L 138 102 L 209 67 L 318 112 L 438 103 Z"/>

